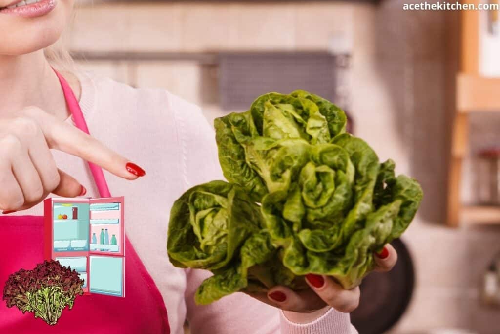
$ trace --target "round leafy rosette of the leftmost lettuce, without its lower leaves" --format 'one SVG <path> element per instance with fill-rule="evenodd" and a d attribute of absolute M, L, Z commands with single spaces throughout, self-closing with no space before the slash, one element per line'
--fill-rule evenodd
<path fill-rule="evenodd" d="M 261 228 L 258 206 L 237 185 L 212 181 L 187 190 L 171 209 L 167 250 L 172 264 L 217 269 Z"/>

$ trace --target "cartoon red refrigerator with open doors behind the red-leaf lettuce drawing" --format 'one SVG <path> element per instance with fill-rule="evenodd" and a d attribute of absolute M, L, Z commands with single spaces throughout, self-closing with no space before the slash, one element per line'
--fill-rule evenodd
<path fill-rule="evenodd" d="M 44 256 L 70 266 L 85 294 L 125 296 L 123 196 L 44 200 Z"/>

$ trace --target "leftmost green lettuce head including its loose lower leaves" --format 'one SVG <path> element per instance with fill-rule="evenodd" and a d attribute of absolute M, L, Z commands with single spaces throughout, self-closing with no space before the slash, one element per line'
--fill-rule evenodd
<path fill-rule="evenodd" d="M 262 223 L 259 206 L 235 184 L 201 184 L 175 201 L 168 227 L 170 261 L 214 273 L 196 291 L 198 304 L 237 291 L 266 291 L 276 284 L 305 287 L 277 259 Z"/>

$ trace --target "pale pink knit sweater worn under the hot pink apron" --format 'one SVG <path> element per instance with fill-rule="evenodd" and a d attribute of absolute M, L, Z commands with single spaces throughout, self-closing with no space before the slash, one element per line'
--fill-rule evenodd
<path fill-rule="evenodd" d="M 200 109 L 164 91 L 134 89 L 110 79 L 78 74 L 80 106 L 93 137 L 136 162 L 146 177 L 133 182 L 105 173 L 112 195 L 125 196 L 125 230 L 165 302 L 171 331 L 192 333 L 355 333 L 349 315 L 328 310 L 314 322 L 295 324 L 283 313 L 243 293 L 207 306 L 193 294 L 208 271 L 173 267 L 166 254 L 169 210 L 196 184 L 223 180 L 214 131 Z M 70 122 L 70 120 L 68 120 Z M 85 162 L 53 151 L 57 166 L 98 197 Z M 16 214 L 43 214 L 42 205 Z"/>

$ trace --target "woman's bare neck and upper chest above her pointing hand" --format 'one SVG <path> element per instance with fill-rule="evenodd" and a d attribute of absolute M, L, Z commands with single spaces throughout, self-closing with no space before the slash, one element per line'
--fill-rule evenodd
<path fill-rule="evenodd" d="M 76 97 L 76 77 L 63 73 Z M 0 55 L 0 118 L 14 116 L 22 108 L 37 106 L 60 120 L 69 117 L 62 89 L 43 50 L 21 56 Z"/>

